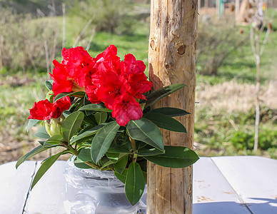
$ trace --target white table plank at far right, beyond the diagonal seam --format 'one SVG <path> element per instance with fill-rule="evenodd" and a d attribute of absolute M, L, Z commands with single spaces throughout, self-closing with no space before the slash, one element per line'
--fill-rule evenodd
<path fill-rule="evenodd" d="M 258 156 L 212 160 L 252 213 L 277 213 L 277 160 Z"/>

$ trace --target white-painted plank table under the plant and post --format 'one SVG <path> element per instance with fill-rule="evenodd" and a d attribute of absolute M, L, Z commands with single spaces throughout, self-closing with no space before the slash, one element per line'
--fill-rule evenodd
<path fill-rule="evenodd" d="M 40 161 L 0 165 L 0 214 L 63 214 L 65 161 L 32 191 Z M 258 156 L 200 158 L 193 167 L 193 213 L 277 214 L 277 160 Z M 156 213 L 158 214 L 158 213 Z"/>

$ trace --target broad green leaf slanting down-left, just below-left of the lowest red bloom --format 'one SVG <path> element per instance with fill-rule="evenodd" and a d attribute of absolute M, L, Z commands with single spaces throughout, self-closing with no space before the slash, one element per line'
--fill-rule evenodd
<path fill-rule="evenodd" d="M 91 142 L 91 158 L 94 163 L 98 163 L 106 151 L 108 151 L 119 128 L 119 124 L 117 124 L 116 121 L 112 121 L 107 123 L 96 133 Z"/>

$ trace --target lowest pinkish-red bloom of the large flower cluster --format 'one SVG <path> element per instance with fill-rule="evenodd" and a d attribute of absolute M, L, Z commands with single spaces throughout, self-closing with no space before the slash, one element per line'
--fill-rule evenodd
<path fill-rule="evenodd" d="M 119 126 L 126 126 L 130 120 L 139 120 L 143 113 L 136 99 L 124 93 L 114 101 L 112 116 L 116 118 Z"/>

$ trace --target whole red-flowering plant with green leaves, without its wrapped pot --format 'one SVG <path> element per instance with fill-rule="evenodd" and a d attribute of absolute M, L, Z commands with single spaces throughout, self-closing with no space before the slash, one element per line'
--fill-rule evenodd
<path fill-rule="evenodd" d="M 54 60 L 52 81 L 46 81 L 46 99 L 30 109 L 28 130 L 40 123 L 39 146 L 26 153 L 21 163 L 50 148 L 57 153 L 41 163 L 31 188 L 64 154 L 74 155 L 78 168 L 111 170 L 125 185 L 126 198 L 135 205 L 146 185 L 146 162 L 185 168 L 198 160 L 181 146 L 164 146 L 160 128 L 186 133 L 176 116 L 178 108 L 151 106 L 183 88 L 183 84 L 151 91 L 143 73 L 146 66 L 127 54 L 123 61 L 116 46 L 93 58 L 82 47 L 63 49 L 61 63 Z M 150 92 L 151 91 L 151 92 Z"/>

